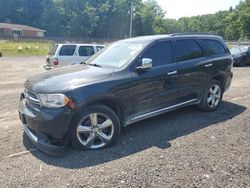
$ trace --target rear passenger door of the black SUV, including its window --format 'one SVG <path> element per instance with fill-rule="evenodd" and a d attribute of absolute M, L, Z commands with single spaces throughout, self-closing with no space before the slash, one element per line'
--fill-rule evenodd
<path fill-rule="evenodd" d="M 208 84 L 205 70 L 207 58 L 201 44 L 195 38 L 176 39 L 175 62 L 178 67 L 178 102 L 194 102 Z"/>

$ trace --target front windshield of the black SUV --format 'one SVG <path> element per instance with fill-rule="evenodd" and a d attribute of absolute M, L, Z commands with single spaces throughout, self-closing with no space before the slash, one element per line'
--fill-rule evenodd
<path fill-rule="evenodd" d="M 145 43 L 116 42 L 89 58 L 87 64 L 121 68 L 138 55 Z"/>

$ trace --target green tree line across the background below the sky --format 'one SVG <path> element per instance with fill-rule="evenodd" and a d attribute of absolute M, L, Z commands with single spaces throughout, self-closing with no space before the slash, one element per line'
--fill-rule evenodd
<path fill-rule="evenodd" d="M 131 12 L 132 11 L 132 12 Z M 1 0 L 0 22 L 47 30 L 48 36 L 120 39 L 179 32 L 209 32 L 250 39 L 250 0 L 216 14 L 168 19 L 155 0 Z"/>

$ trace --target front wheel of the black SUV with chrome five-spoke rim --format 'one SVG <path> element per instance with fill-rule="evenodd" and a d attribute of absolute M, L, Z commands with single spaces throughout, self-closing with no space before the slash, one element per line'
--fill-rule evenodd
<path fill-rule="evenodd" d="M 93 105 L 76 115 L 70 129 L 70 141 L 78 150 L 113 146 L 120 136 L 120 121 L 105 105 Z"/>

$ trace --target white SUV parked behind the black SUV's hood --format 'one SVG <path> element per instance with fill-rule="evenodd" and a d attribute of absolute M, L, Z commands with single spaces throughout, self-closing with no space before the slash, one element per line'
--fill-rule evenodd
<path fill-rule="evenodd" d="M 95 44 L 54 44 L 46 58 L 46 70 L 79 64 L 104 48 Z"/>

